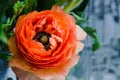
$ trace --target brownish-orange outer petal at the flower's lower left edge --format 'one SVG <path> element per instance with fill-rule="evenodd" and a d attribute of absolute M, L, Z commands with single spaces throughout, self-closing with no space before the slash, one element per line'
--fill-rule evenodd
<path fill-rule="evenodd" d="M 26 68 L 29 69 L 31 67 L 31 65 L 24 60 L 23 56 L 19 54 L 19 51 L 15 43 L 15 37 L 11 37 L 9 39 L 9 50 L 13 54 L 12 59 L 9 61 L 9 66 L 11 67 L 17 66 L 20 68 L 24 66 L 23 70 Z M 20 64 L 20 65 L 17 65 L 17 64 Z"/>

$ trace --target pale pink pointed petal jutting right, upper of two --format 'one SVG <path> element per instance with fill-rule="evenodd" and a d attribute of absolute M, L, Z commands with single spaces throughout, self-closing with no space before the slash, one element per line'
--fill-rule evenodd
<path fill-rule="evenodd" d="M 77 30 L 77 40 L 84 40 L 87 36 L 86 32 L 83 31 L 83 29 L 80 28 L 80 26 L 76 25 Z"/>

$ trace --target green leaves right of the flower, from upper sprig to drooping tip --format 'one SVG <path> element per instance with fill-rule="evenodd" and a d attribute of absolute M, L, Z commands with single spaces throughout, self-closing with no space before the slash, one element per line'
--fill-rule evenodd
<path fill-rule="evenodd" d="M 83 27 L 83 23 L 87 22 L 85 15 L 81 12 L 70 12 L 76 19 L 76 24 L 80 25 L 83 30 L 93 39 L 92 51 L 96 51 L 101 47 L 100 39 L 96 29 L 88 26 Z"/>

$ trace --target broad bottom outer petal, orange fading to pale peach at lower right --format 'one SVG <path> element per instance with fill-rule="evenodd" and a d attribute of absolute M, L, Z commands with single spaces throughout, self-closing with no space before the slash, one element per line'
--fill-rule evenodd
<path fill-rule="evenodd" d="M 61 66 L 55 68 L 48 68 L 48 69 L 41 69 L 35 74 L 40 77 L 41 79 L 45 80 L 64 80 L 65 77 L 68 75 L 70 69 L 77 64 L 79 61 L 79 56 L 74 56 L 73 58 L 69 59 L 66 63 Z"/>

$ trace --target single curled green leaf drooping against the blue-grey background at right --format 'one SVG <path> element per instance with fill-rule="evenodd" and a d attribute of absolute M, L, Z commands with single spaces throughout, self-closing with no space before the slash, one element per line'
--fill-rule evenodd
<path fill-rule="evenodd" d="M 99 36 L 97 34 L 96 29 L 92 28 L 92 27 L 83 27 L 83 30 L 93 38 L 94 42 L 92 45 L 92 50 L 96 51 L 101 47 L 101 42 L 99 39 Z"/>

